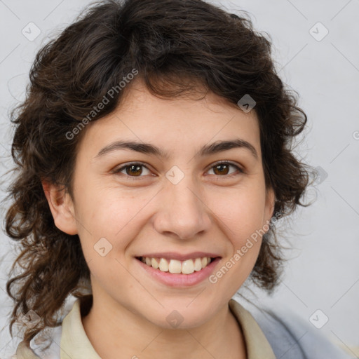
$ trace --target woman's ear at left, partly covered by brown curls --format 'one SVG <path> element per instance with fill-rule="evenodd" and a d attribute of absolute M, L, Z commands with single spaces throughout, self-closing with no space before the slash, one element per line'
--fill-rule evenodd
<path fill-rule="evenodd" d="M 65 188 L 60 188 L 55 184 L 45 181 L 41 183 L 53 215 L 55 226 L 67 234 L 77 234 L 74 203 L 68 191 Z"/>

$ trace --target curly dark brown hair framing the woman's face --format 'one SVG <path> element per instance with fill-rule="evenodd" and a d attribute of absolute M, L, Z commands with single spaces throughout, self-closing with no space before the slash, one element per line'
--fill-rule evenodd
<path fill-rule="evenodd" d="M 27 342 L 45 327 L 60 325 L 57 316 L 69 294 L 85 296 L 81 283 L 90 273 L 79 237 L 57 229 L 41 181 L 60 184 L 72 195 L 76 151 L 86 128 L 68 134 L 131 69 L 163 98 L 194 93 L 199 85 L 229 104 L 250 95 L 259 119 L 265 184 L 276 195 L 274 213 L 284 217 L 304 205 L 310 166 L 295 158 L 292 140 L 307 117 L 297 94 L 278 77 L 267 37 L 245 14 L 202 0 L 105 0 L 90 4 L 39 50 L 26 99 L 11 111 L 16 177 L 6 233 L 20 248 L 11 274 L 15 265 L 21 268 L 6 284 L 15 302 L 12 337 L 13 324 L 30 309 L 41 320 L 23 326 Z M 114 111 L 123 93 L 109 98 L 92 121 Z M 250 278 L 271 292 L 283 260 L 271 223 Z"/>

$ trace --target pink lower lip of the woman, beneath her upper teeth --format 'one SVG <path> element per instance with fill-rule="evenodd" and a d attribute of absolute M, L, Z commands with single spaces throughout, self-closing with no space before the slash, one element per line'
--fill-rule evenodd
<path fill-rule="evenodd" d="M 147 273 L 149 273 L 150 276 L 169 287 L 190 287 L 191 285 L 201 283 L 205 278 L 208 278 L 214 271 L 215 266 L 217 266 L 220 259 L 220 257 L 213 259 L 213 261 L 204 269 L 195 271 L 191 274 L 163 272 L 159 269 L 147 266 L 147 264 L 144 264 L 140 259 L 136 259 L 136 261 L 145 271 L 147 271 Z"/>

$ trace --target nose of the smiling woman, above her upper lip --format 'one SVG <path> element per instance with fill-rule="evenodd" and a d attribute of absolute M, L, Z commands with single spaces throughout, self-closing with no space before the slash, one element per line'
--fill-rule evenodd
<path fill-rule="evenodd" d="M 211 210 L 203 191 L 189 177 L 185 176 L 178 184 L 166 183 L 158 194 L 154 227 L 164 236 L 191 240 L 210 229 Z"/>

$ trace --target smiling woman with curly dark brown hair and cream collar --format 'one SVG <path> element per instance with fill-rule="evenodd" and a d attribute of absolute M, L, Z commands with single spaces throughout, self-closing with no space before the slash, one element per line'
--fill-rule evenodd
<path fill-rule="evenodd" d="M 309 185 L 270 51 L 201 0 L 101 1 L 39 51 L 13 112 L 17 358 L 316 358 L 232 299 L 278 284 L 275 224 Z"/>

